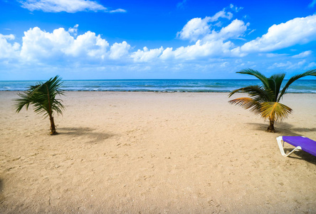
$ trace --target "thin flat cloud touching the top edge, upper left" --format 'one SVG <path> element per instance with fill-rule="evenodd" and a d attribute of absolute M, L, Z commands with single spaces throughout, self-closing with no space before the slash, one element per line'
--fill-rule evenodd
<path fill-rule="evenodd" d="M 23 8 L 29 11 L 53 13 L 75 13 L 78 11 L 125 12 L 123 9 L 109 11 L 105 6 L 98 4 L 98 2 L 89 0 L 21 0 L 20 3 Z"/>

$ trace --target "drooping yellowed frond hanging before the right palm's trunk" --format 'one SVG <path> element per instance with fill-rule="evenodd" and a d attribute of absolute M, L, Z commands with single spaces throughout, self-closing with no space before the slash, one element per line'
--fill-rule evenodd
<path fill-rule="evenodd" d="M 265 120 L 282 121 L 288 118 L 288 115 L 292 112 L 292 108 L 278 102 L 265 102 L 262 103 L 260 112 Z"/>

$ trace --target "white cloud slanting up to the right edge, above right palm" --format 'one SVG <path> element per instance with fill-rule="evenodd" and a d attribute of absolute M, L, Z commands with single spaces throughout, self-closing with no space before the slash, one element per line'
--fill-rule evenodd
<path fill-rule="evenodd" d="M 275 51 L 316 40 L 316 15 L 274 24 L 268 33 L 241 46 L 241 51 Z"/>

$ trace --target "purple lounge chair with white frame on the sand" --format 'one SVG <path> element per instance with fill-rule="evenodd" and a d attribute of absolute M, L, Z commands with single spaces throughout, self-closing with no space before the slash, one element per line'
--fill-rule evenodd
<path fill-rule="evenodd" d="M 280 152 L 284 157 L 290 156 L 295 151 L 305 151 L 307 153 L 312 154 L 313 156 L 316 156 L 316 141 L 312 141 L 310 138 L 305 138 L 301 136 L 280 136 L 277 138 L 278 146 L 280 148 Z M 295 146 L 293 151 L 291 151 L 288 154 L 285 154 L 284 148 L 284 142 L 289 143 L 292 146 Z"/>

